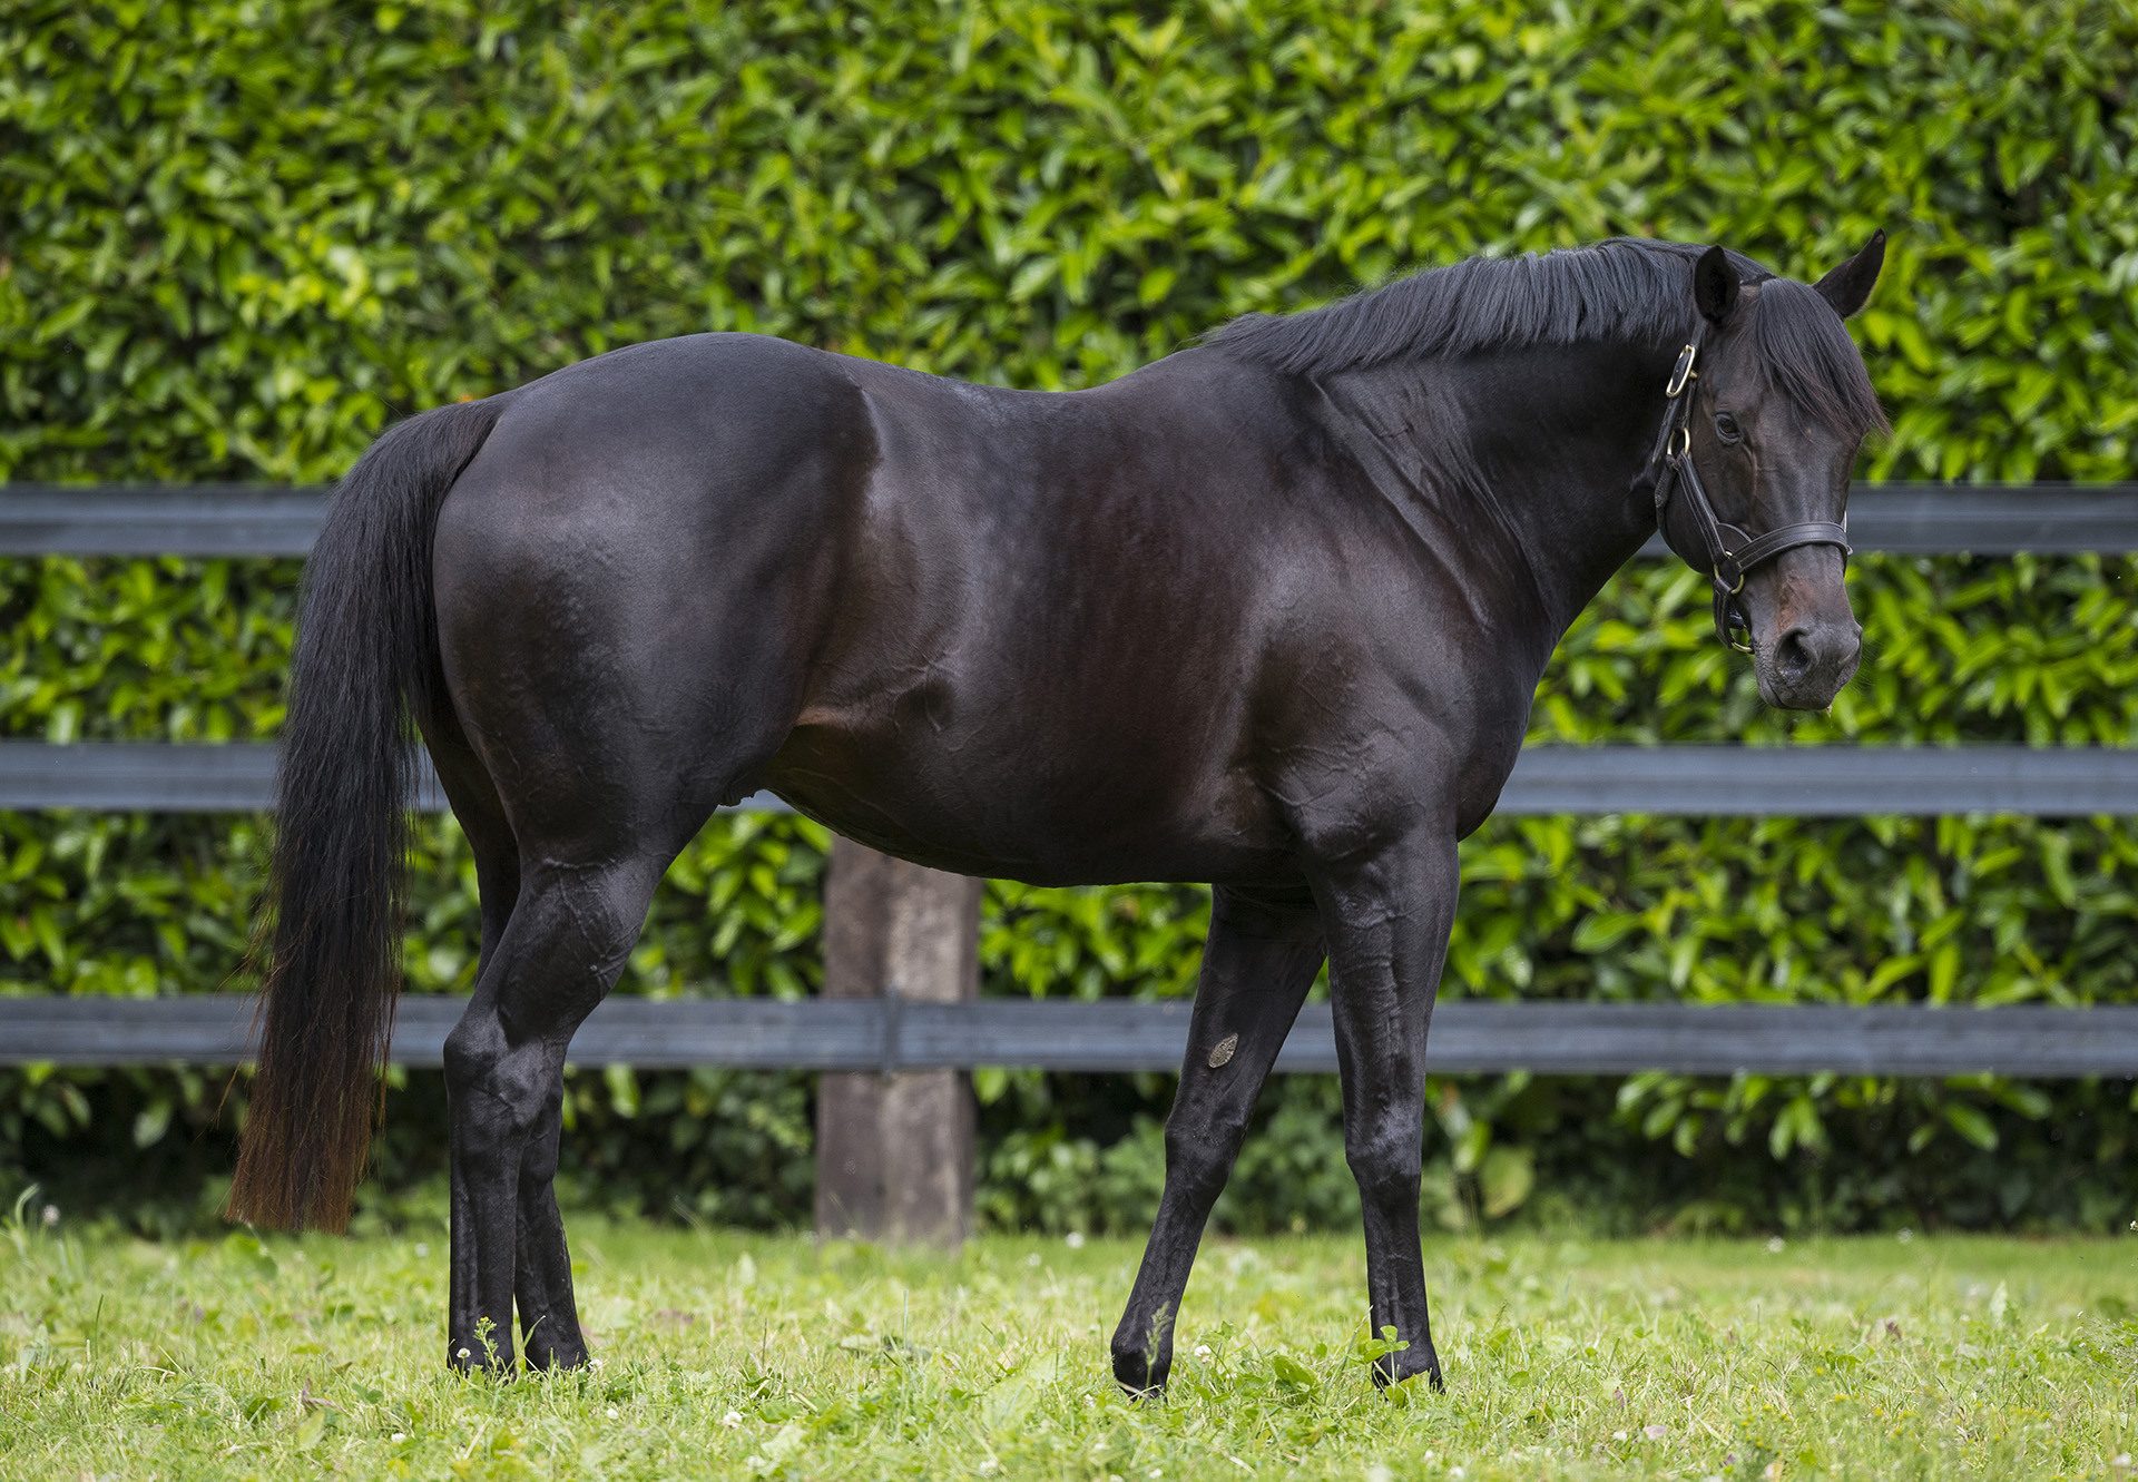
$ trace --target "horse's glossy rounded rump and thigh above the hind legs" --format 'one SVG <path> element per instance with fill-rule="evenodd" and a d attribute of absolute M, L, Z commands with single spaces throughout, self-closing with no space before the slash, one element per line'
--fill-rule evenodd
<path fill-rule="evenodd" d="M 742 336 L 586 361 L 453 488 L 440 659 L 522 853 L 673 853 L 778 748 L 872 460 L 827 364 Z"/>

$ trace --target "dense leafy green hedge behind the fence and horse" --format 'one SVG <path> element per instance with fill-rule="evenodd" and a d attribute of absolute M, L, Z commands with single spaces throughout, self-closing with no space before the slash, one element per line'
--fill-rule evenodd
<path fill-rule="evenodd" d="M 0 30 L 0 477 L 321 481 L 393 415 L 614 344 L 761 329 L 1088 385 L 1242 310 L 1477 250 L 1723 240 L 1800 276 L 1892 233 L 1858 319 L 1869 477 L 2132 477 L 2138 15 L 2123 4 L 17 4 Z M 1698 580 L 1638 567 L 1544 740 L 2138 742 L 2134 562 L 1866 558 L 1864 671 L 1764 712 Z M 0 734 L 269 738 L 291 562 L 0 562 Z M 4 817 L 0 990 L 229 984 L 257 819 Z M 823 836 L 718 821 L 624 992 L 806 992 Z M 1450 992 L 2138 999 L 2127 821 L 1494 821 Z M 1187 887 L 994 885 L 990 992 L 1182 992 Z M 472 877 L 423 838 L 417 990 L 466 988 Z M 1001 1221 L 1133 1223 L 1165 1078 L 983 1076 Z M 0 1074 L 0 1176 L 222 1165 L 220 1080 Z M 2129 1086 L 1740 1078 L 1435 1086 L 1445 1219 L 2129 1219 Z M 436 1165 L 410 1078 L 383 1157 Z M 582 1076 L 588 1198 L 806 1208 L 791 1076 Z M 1326 1082 L 1225 1217 L 1347 1217 Z M 229 1121 L 229 1116 L 224 1116 Z M 152 1148 L 145 1157 L 139 1148 Z M 1745 1157 L 1753 1148 L 1757 1157 Z M 659 1170 L 659 1178 L 648 1172 Z M 1601 1213 L 1597 1213 L 1601 1210 Z"/>

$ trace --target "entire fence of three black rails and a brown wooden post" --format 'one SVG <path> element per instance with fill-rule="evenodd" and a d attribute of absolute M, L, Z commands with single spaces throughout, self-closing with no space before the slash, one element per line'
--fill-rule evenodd
<path fill-rule="evenodd" d="M 0 554 L 301 556 L 323 503 L 316 490 L 6 485 Z M 2129 554 L 2138 485 L 1871 488 L 1854 500 L 1852 537 L 1890 554 Z M 272 746 L 0 742 L 0 808 L 11 811 L 259 811 L 272 783 Z M 440 806 L 428 781 L 419 806 Z M 1548 746 L 1522 753 L 1501 811 L 2138 815 L 2138 751 Z M 573 1059 L 825 1071 L 819 1223 L 928 1236 L 956 1236 L 966 1217 L 971 1106 L 958 1071 L 1178 1069 L 1184 1003 L 973 999 L 971 883 L 842 845 L 830 890 L 825 997 L 614 999 L 579 1031 Z M 436 1065 L 458 1012 L 458 999 L 406 999 L 393 1059 Z M 0 1063 L 227 1065 L 246 1059 L 248 1022 L 248 1001 L 222 994 L 0 999 Z M 1435 1014 L 1432 1061 L 1443 1071 L 2138 1076 L 2138 1007 L 1450 1001 Z M 1328 1009 L 1308 1005 L 1276 1069 L 1334 1063 Z"/>

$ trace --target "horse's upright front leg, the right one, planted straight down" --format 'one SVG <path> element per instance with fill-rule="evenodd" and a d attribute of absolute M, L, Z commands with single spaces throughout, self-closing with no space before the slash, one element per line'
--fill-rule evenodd
<path fill-rule="evenodd" d="M 1330 1007 L 1343 1074 L 1343 1140 L 1366 1217 L 1373 1332 L 1409 1347 L 1375 1381 L 1441 1384 L 1417 1238 L 1426 1118 L 1426 1024 L 1456 907 L 1454 832 L 1428 830 L 1317 873 L 1330 950 Z"/>

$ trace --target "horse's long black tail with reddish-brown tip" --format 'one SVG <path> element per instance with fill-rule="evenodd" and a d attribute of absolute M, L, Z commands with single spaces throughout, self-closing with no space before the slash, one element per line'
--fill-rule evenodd
<path fill-rule="evenodd" d="M 342 479 L 304 573 L 259 943 L 261 1052 L 229 1217 L 342 1230 L 393 1033 L 410 716 L 443 699 L 438 507 L 502 398 L 440 406 Z"/>

